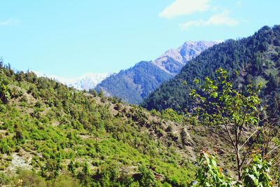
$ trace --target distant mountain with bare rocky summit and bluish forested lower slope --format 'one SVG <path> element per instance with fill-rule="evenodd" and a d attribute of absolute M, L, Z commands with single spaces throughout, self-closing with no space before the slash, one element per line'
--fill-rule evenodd
<path fill-rule="evenodd" d="M 163 82 L 178 74 L 188 60 L 214 44 L 214 41 L 187 41 L 179 48 L 167 50 L 154 61 L 142 61 L 130 69 L 112 74 L 99 83 L 96 90 L 139 104 Z"/>

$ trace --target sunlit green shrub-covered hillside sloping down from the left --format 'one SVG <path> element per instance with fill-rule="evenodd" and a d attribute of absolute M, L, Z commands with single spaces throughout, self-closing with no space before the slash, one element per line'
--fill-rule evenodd
<path fill-rule="evenodd" d="M 0 98 L 0 186 L 186 186 L 194 177 L 183 126 L 163 119 L 168 112 L 153 116 L 3 62 Z"/>

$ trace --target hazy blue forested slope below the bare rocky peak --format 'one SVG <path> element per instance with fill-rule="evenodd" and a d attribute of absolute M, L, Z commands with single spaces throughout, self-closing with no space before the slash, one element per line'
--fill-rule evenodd
<path fill-rule="evenodd" d="M 105 95 L 115 96 L 132 104 L 138 104 L 148 97 L 151 90 L 173 76 L 151 62 L 139 62 L 134 67 L 113 74 L 97 85 L 96 90 L 103 90 Z"/>

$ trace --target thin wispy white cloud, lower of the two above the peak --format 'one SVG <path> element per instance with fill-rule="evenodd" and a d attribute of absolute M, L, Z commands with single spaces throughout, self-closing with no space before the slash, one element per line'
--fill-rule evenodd
<path fill-rule="evenodd" d="M 181 29 L 188 29 L 190 27 L 200 27 L 200 26 L 209 26 L 209 25 L 228 25 L 235 26 L 239 22 L 234 18 L 230 18 L 230 11 L 223 11 L 216 15 L 212 15 L 208 20 L 191 20 L 180 24 Z"/>

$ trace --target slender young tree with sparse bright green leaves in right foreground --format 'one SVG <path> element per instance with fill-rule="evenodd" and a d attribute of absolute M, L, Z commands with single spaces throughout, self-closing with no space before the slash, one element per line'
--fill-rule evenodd
<path fill-rule="evenodd" d="M 211 127 L 212 132 L 219 134 L 234 150 L 238 180 L 241 171 L 253 147 L 253 135 L 260 130 L 260 99 L 258 90 L 248 86 L 247 93 L 235 90 L 228 81 L 228 72 L 216 71 L 218 79 L 205 79 L 201 85 L 201 94 L 191 90 L 197 103 L 195 115 L 204 125 Z M 199 81 L 195 80 L 198 84 Z"/>

